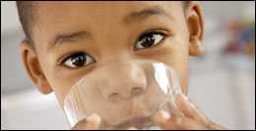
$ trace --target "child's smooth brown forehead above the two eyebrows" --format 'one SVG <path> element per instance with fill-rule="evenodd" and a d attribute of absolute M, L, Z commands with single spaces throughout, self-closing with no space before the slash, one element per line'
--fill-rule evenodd
<path fill-rule="evenodd" d="M 160 9 L 173 20 L 183 15 L 181 2 L 37 2 L 34 5 L 37 17 L 33 32 L 44 33 L 38 35 L 41 39 L 67 30 L 98 31 L 109 30 L 109 27 L 113 30 L 120 25 L 127 28 L 127 24 L 120 24 L 125 17 L 150 8 Z"/>

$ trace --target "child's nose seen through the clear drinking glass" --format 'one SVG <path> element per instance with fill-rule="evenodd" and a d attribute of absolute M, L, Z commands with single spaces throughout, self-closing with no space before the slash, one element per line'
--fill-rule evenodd
<path fill-rule="evenodd" d="M 119 101 L 141 95 L 146 90 L 147 79 L 140 66 L 107 66 L 102 70 L 97 87 L 105 99 Z"/>

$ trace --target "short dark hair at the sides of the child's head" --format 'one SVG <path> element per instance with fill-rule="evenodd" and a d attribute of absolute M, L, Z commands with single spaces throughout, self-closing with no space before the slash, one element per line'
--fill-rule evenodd
<path fill-rule="evenodd" d="M 183 1 L 183 7 L 187 8 L 188 1 Z M 22 23 L 27 40 L 32 42 L 32 26 L 35 18 L 35 2 L 32 1 L 17 1 L 16 2 L 19 19 Z"/>

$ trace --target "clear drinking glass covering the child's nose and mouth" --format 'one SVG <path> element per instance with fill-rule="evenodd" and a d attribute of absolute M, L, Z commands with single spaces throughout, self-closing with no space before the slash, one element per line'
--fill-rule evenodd
<path fill-rule="evenodd" d="M 166 103 L 176 107 L 178 93 L 179 80 L 170 66 L 115 62 L 97 67 L 75 83 L 64 100 L 64 111 L 71 128 L 97 113 L 100 129 L 149 129 L 157 110 L 167 109 Z"/>

